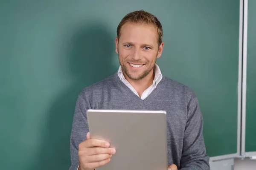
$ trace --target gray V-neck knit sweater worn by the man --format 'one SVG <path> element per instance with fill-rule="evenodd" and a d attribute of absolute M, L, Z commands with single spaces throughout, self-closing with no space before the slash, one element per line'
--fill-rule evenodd
<path fill-rule="evenodd" d="M 203 117 L 194 92 L 167 77 L 144 100 L 118 77 L 84 88 L 78 96 L 70 139 L 70 170 L 79 165 L 78 145 L 88 132 L 87 109 L 164 110 L 167 115 L 168 164 L 180 170 L 209 170 L 203 136 Z"/>

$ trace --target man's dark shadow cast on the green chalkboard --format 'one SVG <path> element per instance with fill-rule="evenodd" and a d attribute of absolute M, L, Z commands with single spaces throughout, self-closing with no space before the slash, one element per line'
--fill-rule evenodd
<path fill-rule="evenodd" d="M 69 169 L 70 133 L 77 96 L 84 87 L 117 71 L 118 68 L 111 63 L 114 43 L 113 36 L 99 23 L 86 23 L 75 32 L 70 43 L 70 53 L 63 58 L 70 63 L 67 69 L 73 84 L 52 103 L 47 130 L 42 138 L 44 141 L 36 159 L 38 161 L 31 162 L 31 170 Z"/>

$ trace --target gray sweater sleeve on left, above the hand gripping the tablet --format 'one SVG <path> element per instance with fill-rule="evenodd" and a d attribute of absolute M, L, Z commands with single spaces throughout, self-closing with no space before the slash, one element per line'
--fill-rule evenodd
<path fill-rule="evenodd" d="M 86 111 L 90 108 L 89 102 L 79 94 L 75 113 L 73 117 L 73 125 L 70 136 L 70 158 L 71 166 L 69 170 L 77 170 L 79 167 L 78 146 L 79 143 L 86 140 L 86 134 L 89 131 L 87 124 Z"/>

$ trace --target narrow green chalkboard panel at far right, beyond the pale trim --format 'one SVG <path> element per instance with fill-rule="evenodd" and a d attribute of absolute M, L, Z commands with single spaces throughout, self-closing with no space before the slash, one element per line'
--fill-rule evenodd
<path fill-rule="evenodd" d="M 248 0 L 245 152 L 256 152 L 256 1 Z"/>

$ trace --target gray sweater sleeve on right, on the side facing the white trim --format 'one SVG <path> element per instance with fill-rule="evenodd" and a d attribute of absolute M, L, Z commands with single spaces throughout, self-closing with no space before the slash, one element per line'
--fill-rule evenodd
<path fill-rule="evenodd" d="M 203 116 L 194 93 L 188 99 L 180 170 L 210 170 L 203 136 Z"/>

